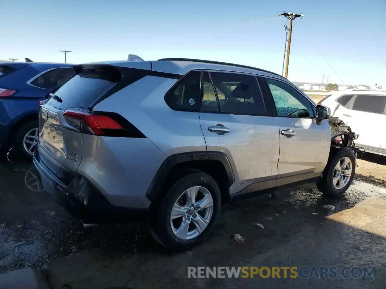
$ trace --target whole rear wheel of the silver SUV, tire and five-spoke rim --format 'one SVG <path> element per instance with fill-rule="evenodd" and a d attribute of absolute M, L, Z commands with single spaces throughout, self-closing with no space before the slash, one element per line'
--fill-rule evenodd
<path fill-rule="evenodd" d="M 149 229 L 164 247 L 187 250 L 208 237 L 220 211 L 221 194 L 216 181 L 194 171 L 171 186 L 151 212 Z"/>

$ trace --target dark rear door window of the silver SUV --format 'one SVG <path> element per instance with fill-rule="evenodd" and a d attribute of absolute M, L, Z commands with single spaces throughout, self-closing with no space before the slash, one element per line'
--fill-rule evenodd
<path fill-rule="evenodd" d="M 204 72 L 201 111 L 266 115 L 256 77 L 228 72 Z"/>

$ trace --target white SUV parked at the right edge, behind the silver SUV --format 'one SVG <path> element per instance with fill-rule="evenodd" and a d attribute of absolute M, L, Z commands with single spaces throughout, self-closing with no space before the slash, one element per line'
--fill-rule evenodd
<path fill-rule="evenodd" d="M 386 135 L 381 130 L 386 125 L 386 91 L 333 91 L 318 104 L 330 108 L 332 116 L 339 117 L 359 134 L 357 147 L 386 156 Z"/>

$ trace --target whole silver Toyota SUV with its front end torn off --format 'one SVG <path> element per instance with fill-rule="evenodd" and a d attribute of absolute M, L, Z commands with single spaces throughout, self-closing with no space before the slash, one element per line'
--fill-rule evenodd
<path fill-rule="evenodd" d="M 185 250 L 235 198 L 308 181 L 339 196 L 352 182 L 355 134 L 278 74 L 131 56 L 73 67 L 40 107 L 34 164 L 84 224 L 146 219 Z"/>

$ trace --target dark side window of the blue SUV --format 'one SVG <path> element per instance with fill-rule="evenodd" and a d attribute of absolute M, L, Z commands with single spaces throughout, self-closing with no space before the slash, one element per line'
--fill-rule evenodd
<path fill-rule="evenodd" d="M 75 71 L 72 68 L 51 69 L 36 77 L 30 84 L 43 89 L 54 89 L 71 79 L 74 75 Z"/>

